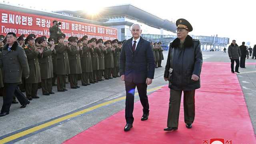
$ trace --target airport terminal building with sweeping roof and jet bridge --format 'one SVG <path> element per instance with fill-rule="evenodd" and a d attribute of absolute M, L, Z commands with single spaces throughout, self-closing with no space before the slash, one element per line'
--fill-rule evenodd
<path fill-rule="evenodd" d="M 102 8 L 97 15 L 93 16 L 82 10 L 45 12 L 4 3 L 0 3 L 0 8 L 116 28 L 118 40 L 121 41 L 132 37 L 130 26 L 134 23 L 138 23 L 142 26 L 142 37 L 144 39 L 151 42 L 162 42 L 163 47 L 166 49 L 168 49 L 170 42 L 176 38 L 176 24 L 174 21 L 159 18 L 150 12 L 146 12 L 145 10 L 133 6 L 132 4 Z M 209 48 L 222 49 L 229 44 L 229 38 L 220 38 L 217 35 L 192 35 L 192 38 L 200 40 L 203 50 Z"/>

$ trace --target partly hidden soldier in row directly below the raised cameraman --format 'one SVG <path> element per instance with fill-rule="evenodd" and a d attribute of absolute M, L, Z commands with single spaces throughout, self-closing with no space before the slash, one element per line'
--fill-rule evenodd
<path fill-rule="evenodd" d="M 48 46 L 51 48 L 53 45 L 54 45 L 54 50 L 55 50 L 55 38 L 53 37 L 50 37 L 48 38 Z M 55 53 L 53 52 L 52 53 L 52 68 L 53 68 L 53 78 L 52 78 L 52 86 L 57 86 L 57 84 L 55 83 L 56 82 L 56 78 L 57 78 L 57 75 L 56 75 L 56 67 L 57 67 L 57 55 L 56 55 L 56 50 L 55 50 Z"/>

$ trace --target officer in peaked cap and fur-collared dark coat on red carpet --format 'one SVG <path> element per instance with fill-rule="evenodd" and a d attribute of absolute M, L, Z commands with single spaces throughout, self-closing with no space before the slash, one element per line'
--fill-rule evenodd
<path fill-rule="evenodd" d="M 185 19 L 176 21 L 177 38 L 170 44 L 164 80 L 169 81 L 170 102 L 165 131 L 178 130 L 180 100 L 184 94 L 184 120 L 192 128 L 195 118 L 195 90 L 200 88 L 202 51 L 199 40 L 192 39 L 193 30 Z M 175 55 L 175 56 L 174 56 Z"/>

